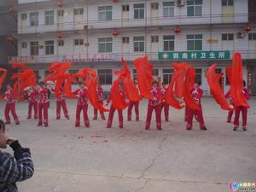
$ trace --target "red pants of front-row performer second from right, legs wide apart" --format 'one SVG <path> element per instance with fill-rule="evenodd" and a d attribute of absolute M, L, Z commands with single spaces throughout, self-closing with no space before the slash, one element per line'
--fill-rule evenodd
<path fill-rule="evenodd" d="M 197 120 L 199 121 L 199 125 L 201 128 L 205 127 L 204 117 L 202 113 L 202 109 L 200 106 L 200 110 L 196 111 L 194 109 L 188 108 L 188 117 L 187 117 L 187 128 L 192 129 L 193 127 L 193 117 L 194 115 L 197 117 Z"/>

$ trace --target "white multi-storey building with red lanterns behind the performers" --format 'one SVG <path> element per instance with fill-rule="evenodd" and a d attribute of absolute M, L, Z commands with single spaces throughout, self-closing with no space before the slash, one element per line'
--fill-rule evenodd
<path fill-rule="evenodd" d="M 24 61 L 44 79 L 52 61 L 73 61 L 70 73 L 93 68 L 108 90 L 121 57 L 136 78 L 133 61 L 148 55 L 154 76 L 166 82 L 172 61 L 186 61 L 208 95 L 207 67 L 217 63 L 218 73 L 225 73 L 239 50 L 244 79 L 255 94 L 255 8 L 252 0 L 19 0 L 18 55 L 10 62 Z M 225 76 L 223 84 L 228 90 Z"/>

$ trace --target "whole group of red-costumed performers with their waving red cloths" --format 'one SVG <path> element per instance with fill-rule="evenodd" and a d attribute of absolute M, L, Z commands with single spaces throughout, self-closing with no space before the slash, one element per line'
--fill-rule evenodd
<path fill-rule="evenodd" d="M 146 116 L 145 129 L 150 129 L 152 113 L 155 113 L 156 129 L 161 130 L 161 113 L 164 113 L 164 119 L 169 121 L 169 107 L 181 109 L 185 108 L 184 119 L 187 122 L 187 130 L 192 130 L 193 118 L 199 122 L 200 129 L 206 131 L 207 127 L 203 118 L 201 108 L 201 98 L 203 90 L 201 82 L 195 82 L 195 68 L 187 63 L 173 63 L 175 73 L 169 84 L 166 82 L 154 80 L 152 76 L 153 66 L 149 63 L 148 57 L 138 58 L 134 66 L 137 67 L 137 85 L 131 79 L 131 72 L 127 63 L 123 62 L 123 69 L 116 71 L 117 79 L 113 82 L 108 100 L 103 102 L 102 85 L 98 82 L 96 73 L 88 68 L 81 69 L 79 73 L 65 73 L 71 63 L 53 63 L 49 67 L 49 76 L 37 84 L 37 78 L 32 69 L 29 69 L 21 63 L 14 63 L 14 67 L 21 70 L 15 73 L 12 79 L 15 80 L 13 87 L 7 85 L 7 90 L 2 96 L 6 100 L 4 115 L 6 124 L 11 120 L 9 112 L 12 113 L 15 124 L 19 125 L 20 120 L 15 111 L 16 99 L 28 101 L 27 119 L 38 119 L 38 126 L 49 125 L 49 95 L 55 93 L 56 119 L 61 119 L 61 108 L 66 119 L 70 119 L 67 110 L 66 98 L 77 99 L 75 127 L 80 126 L 80 113 L 83 112 L 84 126 L 90 127 L 88 117 L 89 102 L 94 107 L 94 117 L 98 118 L 98 112 L 105 120 L 105 112 L 108 112 L 107 128 L 112 127 L 114 112 L 117 110 L 119 116 L 119 128 L 124 127 L 123 111 L 127 108 L 127 120 L 131 121 L 132 108 L 135 108 L 136 120 L 139 121 L 139 102 L 142 99 L 148 99 L 148 110 Z M 212 65 L 207 72 L 207 81 L 211 93 L 219 106 L 229 110 L 227 122 L 231 122 L 233 111 L 235 111 L 234 131 L 239 128 L 239 116 L 242 115 L 242 130 L 247 130 L 247 101 L 249 99 L 248 90 L 245 81 L 242 81 L 241 55 L 236 52 L 233 56 L 233 65 L 227 68 L 230 79 L 230 90 L 224 95 L 219 78 L 223 74 L 216 74 L 215 67 Z M 6 70 L 0 69 L 2 76 L 0 78 L 0 88 L 6 78 Z M 236 76 L 235 76 L 236 75 Z M 78 80 L 79 79 L 79 80 Z M 48 83 L 55 83 L 55 88 L 47 86 Z M 77 82 L 79 89 L 72 91 L 72 83 Z M 109 103 L 111 105 L 108 107 Z"/>

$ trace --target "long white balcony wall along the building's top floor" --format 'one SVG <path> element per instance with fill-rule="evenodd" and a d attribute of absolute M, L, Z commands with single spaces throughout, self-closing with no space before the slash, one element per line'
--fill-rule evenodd
<path fill-rule="evenodd" d="M 39 33 L 76 30 L 115 29 L 128 27 L 149 26 L 191 26 L 191 25 L 214 25 L 214 24 L 237 24 L 247 23 L 248 14 L 230 15 L 201 15 L 174 17 L 147 17 L 145 19 L 113 19 L 113 20 L 81 20 L 55 22 L 54 25 L 39 24 L 38 26 L 18 26 L 18 33 Z"/>

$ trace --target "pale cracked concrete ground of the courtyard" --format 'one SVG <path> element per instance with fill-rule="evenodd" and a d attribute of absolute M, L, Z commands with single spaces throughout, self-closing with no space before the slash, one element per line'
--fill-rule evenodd
<path fill-rule="evenodd" d="M 232 131 L 227 112 L 211 98 L 202 101 L 208 131 L 200 131 L 196 122 L 186 131 L 183 110 L 173 108 L 163 131 L 154 123 L 145 131 L 146 101 L 140 122 L 125 121 L 122 130 L 117 116 L 112 129 L 102 120 L 75 129 L 72 100 L 70 120 L 56 121 L 51 101 L 49 127 L 37 127 L 35 120 L 26 120 L 27 103 L 19 103 L 20 125 L 8 125 L 7 134 L 31 148 L 35 173 L 18 187 L 20 192 L 218 192 L 230 191 L 230 182 L 256 182 L 255 101 L 250 101 L 246 132 Z M 3 107 L 1 102 L 1 118 Z"/>

